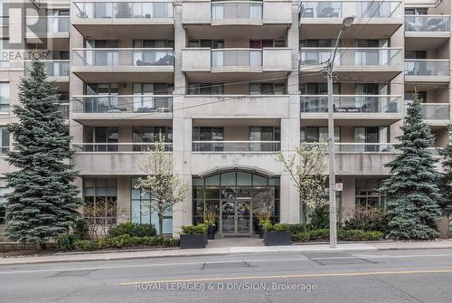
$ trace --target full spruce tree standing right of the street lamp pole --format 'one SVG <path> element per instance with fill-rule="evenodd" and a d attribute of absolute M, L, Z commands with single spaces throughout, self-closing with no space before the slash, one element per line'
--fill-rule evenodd
<path fill-rule="evenodd" d="M 401 154 L 386 166 L 391 176 L 381 188 L 387 192 L 390 233 L 393 239 L 431 239 L 438 237 L 436 222 L 441 215 L 436 160 L 428 152 L 434 137 L 422 121 L 418 93 L 409 104 L 403 135 L 396 146 Z"/>

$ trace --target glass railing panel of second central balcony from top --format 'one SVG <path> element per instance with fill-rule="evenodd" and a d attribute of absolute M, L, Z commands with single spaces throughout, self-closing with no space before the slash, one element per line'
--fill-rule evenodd
<path fill-rule="evenodd" d="M 262 67 L 262 50 L 219 49 L 212 50 L 212 67 Z"/>

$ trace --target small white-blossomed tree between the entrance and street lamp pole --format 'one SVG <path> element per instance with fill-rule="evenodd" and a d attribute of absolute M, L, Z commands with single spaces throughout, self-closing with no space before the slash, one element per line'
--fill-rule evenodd
<path fill-rule="evenodd" d="M 322 207 L 325 201 L 325 183 L 327 180 L 325 163 L 326 144 L 324 141 L 302 143 L 295 147 L 295 151 L 284 156 L 278 153 L 277 160 L 283 170 L 290 175 L 290 179 L 297 187 L 300 196 L 300 220 L 303 219 L 304 228 L 307 227 L 307 212 Z"/>

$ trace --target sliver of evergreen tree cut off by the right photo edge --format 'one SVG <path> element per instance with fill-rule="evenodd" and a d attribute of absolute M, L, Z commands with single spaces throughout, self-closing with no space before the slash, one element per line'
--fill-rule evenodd
<path fill-rule="evenodd" d="M 448 127 L 447 147 L 440 149 L 439 155 L 443 157 L 441 165 L 444 169 L 440 182 L 441 194 L 443 195 L 440 206 L 443 214 L 450 216 L 452 214 L 452 125 Z"/>

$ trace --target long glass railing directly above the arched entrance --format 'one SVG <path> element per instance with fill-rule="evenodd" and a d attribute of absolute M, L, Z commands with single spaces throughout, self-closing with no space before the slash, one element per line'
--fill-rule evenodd
<path fill-rule="evenodd" d="M 280 141 L 193 141 L 193 152 L 277 152 Z"/>

